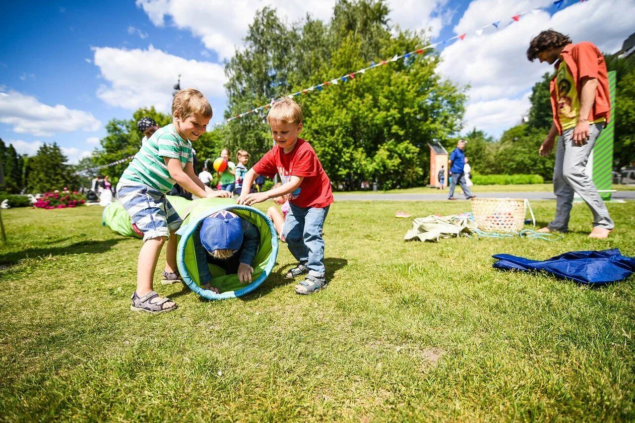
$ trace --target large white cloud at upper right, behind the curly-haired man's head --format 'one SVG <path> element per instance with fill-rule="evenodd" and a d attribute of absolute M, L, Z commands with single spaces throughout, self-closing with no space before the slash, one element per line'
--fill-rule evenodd
<path fill-rule="evenodd" d="M 552 28 L 569 34 L 574 43 L 591 41 L 606 52 L 618 50 L 632 32 L 633 0 L 576 3 L 552 16 L 542 10 L 523 15 L 519 22 L 512 21 L 516 13 L 541 4 L 544 3 L 533 0 L 474 0 L 455 26 L 456 34 L 467 32 L 467 36 L 443 50 L 438 71 L 457 84 L 471 85 L 465 116 L 467 124 L 478 121 L 502 131 L 504 125 L 492 123 L 518 122 L 528 103 L 517 99 L 530 91 L 542 74 L 553 71 L 551 65 L 531 63 L 526 58 L 531 38 L 541 30 Z M 480 37 L 474 33 L 497 20 L 501 21 L 500 29 L 488 27 Z M 509 114 L 514 114 L 513 118 L 502 116 L 505 104 Z M 523 105 L 526 105 L 524 111 L 521 110 Z M 500 131 L 493 135 L 500 135 Z"/>

